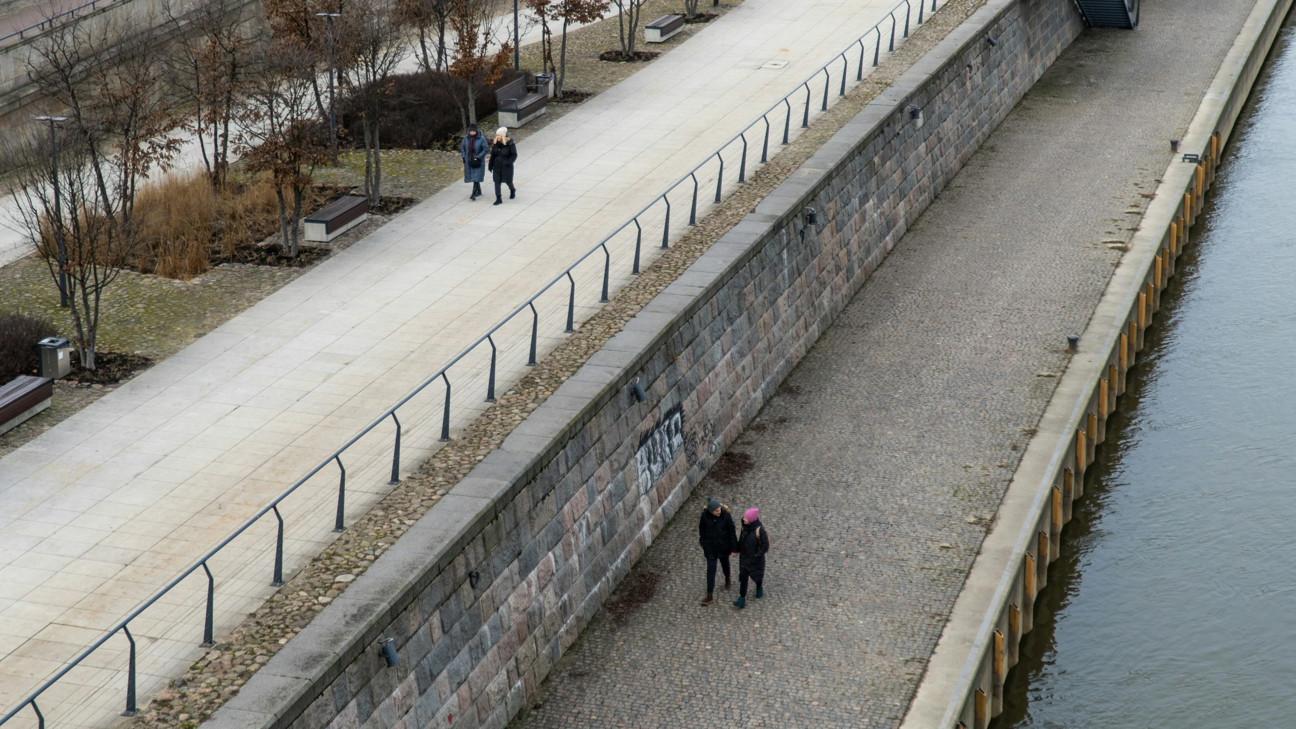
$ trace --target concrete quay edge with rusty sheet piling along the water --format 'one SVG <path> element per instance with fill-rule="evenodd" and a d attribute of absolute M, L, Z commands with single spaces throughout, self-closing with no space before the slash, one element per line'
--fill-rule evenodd
<path fill-rule="evenodd" d="M 1003 681 L 1030 631 L 1034 603 L 1058 558 L 1085 470 L 1107 435 L 1107 418 L 1175 259 L 1190 243 L 1225 144 L 1292 0 L 1258 0 L 1207 91 L 1181 153 L 1161 176 L 1139 229 L 1080 339 L 1067 373 L 1023 454 L 972 572 L 955 602 L 902 729 L 985 729 L 1002 711 Z"/>

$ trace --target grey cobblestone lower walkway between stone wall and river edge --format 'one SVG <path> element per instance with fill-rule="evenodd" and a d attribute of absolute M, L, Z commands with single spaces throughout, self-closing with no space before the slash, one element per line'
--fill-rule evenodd
<path fill-rule="evenodd" d="M 752 470 L 645 553 L 627 583 L 652 571 L 654 596 L 601 611 L 515 726 L 898 725 L 1120 255 L 1102 242 L 1129 238 L 1251 6 L 1147 0 L 1137 31 L 1086 31 L 732 447 Z M 762 509 L 746 610 L 736 587 L 697 605 L 705 496 Z"/>

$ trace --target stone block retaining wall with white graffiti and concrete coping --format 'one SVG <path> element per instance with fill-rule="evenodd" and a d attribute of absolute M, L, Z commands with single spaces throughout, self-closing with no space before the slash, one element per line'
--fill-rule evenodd
<path fill-rule="evenodd" d="M 504 725 L 1081 28 L 1069 0 L 990 0 L 635 316 L 207 726 Z M 388 637 L 402 659 L 390 668 L 377 646 Z"/>

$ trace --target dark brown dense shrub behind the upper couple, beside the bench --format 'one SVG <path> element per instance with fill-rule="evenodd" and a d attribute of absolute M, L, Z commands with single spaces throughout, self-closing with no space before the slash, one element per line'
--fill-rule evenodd
<path fill-rule="evenodd" d="M 517 78 L 526 78 L 526 74 L 505 69 L 499 82 L 481 89 L 477 95 L 478 119 L 499 110 L 495 89 Z M 437 149 L 457 144 L 464 123 L 450 89 L 465 93 L 463 79 L 420 71 L 389 76 L 386 83 L 390 101 L 378 135 L 384 149 Z M 338 101 L 340 132 L 346 140 L 354 140 L 359 145 L 363 144 L 364 135 L 359 115 L 350 113 L 353 106 L 350 97 Z"/>

